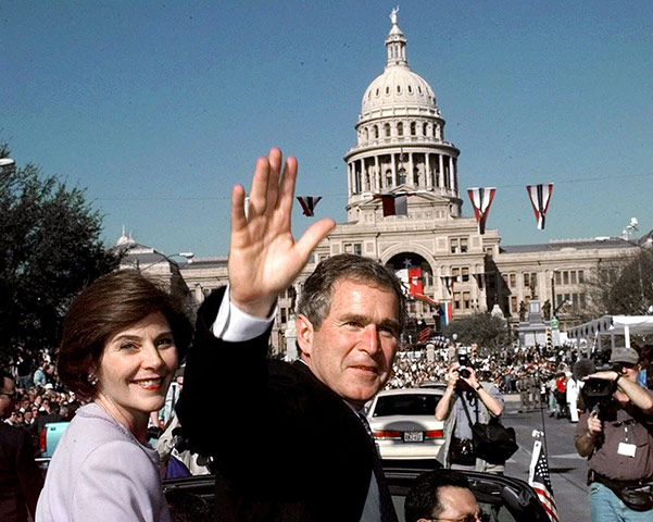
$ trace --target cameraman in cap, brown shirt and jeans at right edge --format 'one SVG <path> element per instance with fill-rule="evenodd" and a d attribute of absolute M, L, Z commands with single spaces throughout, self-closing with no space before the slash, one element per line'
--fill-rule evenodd
<path fill-rule="evenodd" d="M 607 402 L 582 413 L 576 428 L 576 449 L 588 457 L 592 522 L 653 520 L 653 391 L 637 384 L 638 359 L 632 348 L 615 348 L 613 370 L 585 378 L 615 387 Z M 640 489 L 635 502 L 623 500 L 628 488 Z"/>

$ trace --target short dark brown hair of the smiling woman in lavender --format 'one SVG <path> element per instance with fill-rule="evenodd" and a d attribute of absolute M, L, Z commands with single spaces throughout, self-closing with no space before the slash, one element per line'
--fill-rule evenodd
<path fill-rule="evenodd" d="M 163 313 L 169 323 L 180 363 L 188 351 L 192 327 L 178 299 L 135 270 L 113 272 L 85 288 L 63 323 L 58 359 L 63 384 L 83 399 L 92 398 L 96 384 L 89 374 L 97 370 L 104 345 L 155 312 Z"/>

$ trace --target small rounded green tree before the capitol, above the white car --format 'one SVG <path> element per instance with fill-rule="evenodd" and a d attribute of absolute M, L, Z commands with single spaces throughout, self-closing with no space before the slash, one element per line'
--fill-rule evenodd
<path fill-rule="evenodd" d="M 499 351 L 511 343 L 507 322 L 489 313 L 475 313 L 453 321 L 443 333 L 449 338 L 456 334 L 456 341 L 462 345 L 476 344 L 480 355 Z"/>

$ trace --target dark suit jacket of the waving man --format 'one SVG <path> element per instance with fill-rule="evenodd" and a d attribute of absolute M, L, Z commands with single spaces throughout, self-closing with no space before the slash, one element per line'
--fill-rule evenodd
<path fill-rule="evenodd" d="M 224 289 L 198 312 L 177 412 L 214 457 L 216 521 L 359 522 L 374 446 L 356 413 L 302 362 L 267 360 L 269 332 L 216 339 Z"/>

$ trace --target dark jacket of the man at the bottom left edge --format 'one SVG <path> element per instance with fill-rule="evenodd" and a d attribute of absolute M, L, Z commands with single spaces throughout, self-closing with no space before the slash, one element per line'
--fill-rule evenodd
<path fill-rule="evenodd" d="M 29 435 L 0 421 L 0 520 L 26 522 L 27 509 L 34 517 L 42 487 Z"/>

